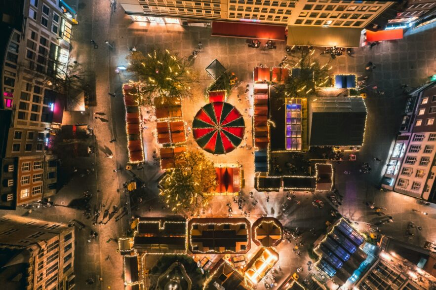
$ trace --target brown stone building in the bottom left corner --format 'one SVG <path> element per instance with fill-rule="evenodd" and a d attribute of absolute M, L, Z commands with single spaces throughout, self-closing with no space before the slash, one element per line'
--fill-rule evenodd
<path fill-rule="evenodd" d="M 7 290 L 71 290 L 74 228 L 29 217 L 0 218 L 0 284 Z"/>

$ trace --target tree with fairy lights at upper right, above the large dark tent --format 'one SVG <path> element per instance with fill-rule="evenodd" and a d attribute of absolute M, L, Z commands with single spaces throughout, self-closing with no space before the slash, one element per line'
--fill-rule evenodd
<path fill-rule="evenodd" d="M 288 58 L 283 67 L 292 70 L 292 75 L 286 78 L 284 86 L 279 88 L 287 97 L 316 96 L 320 88 L 329 85 L 331 81 L 331 66 L 329 61 L 320 64 L 314 57 L 315 50 L 302 48 L 300 54 Z"/>

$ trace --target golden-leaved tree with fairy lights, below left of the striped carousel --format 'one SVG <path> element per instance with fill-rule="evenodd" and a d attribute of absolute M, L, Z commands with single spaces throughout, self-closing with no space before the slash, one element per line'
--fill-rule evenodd
<path fill-rule="evenodd" d="M 169 169 L 160 181 L 162 202 L 174 213 L 197 215 L 207 208 L 216 188 L 213 162 L 202 152 L 189 151 L 175 158 L 176 168 Z"/>

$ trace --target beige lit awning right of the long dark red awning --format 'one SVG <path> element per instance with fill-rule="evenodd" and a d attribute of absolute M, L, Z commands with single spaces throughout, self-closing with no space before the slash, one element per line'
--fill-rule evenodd
<path fill-rule="evenodd" d="M 360 28 L 288 26 L 287 45 L 359 47 Z"/>

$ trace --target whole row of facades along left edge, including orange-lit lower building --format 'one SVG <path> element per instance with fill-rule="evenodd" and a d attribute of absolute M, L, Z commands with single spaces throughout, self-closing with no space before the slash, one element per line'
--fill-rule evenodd
<path fill-rule="evenodd" d="M 8 126 L 0 140 L 0 208 L 14 209 L 56 192 L 56 157 L 50 155 L 49 140 L 62 122 L 63 100 L 40 75 L 68 63 L 71 29 L 77 22 L 64 0 L 3 4 L 0 109 L 2 116 L 4 111 L 10 115 L 2 117 Z"/>

